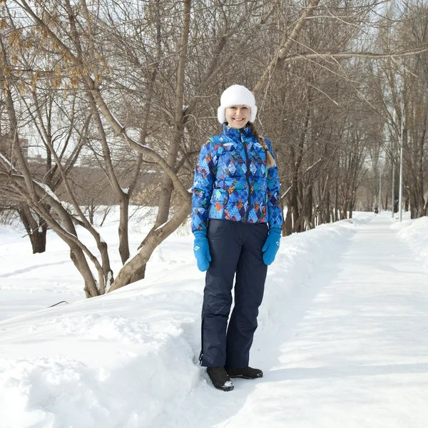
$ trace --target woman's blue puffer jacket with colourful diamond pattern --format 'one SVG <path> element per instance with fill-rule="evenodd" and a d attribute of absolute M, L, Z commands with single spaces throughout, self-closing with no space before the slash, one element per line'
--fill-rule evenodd
<path fill-rule="evenodd" d="M 266 151 L 248 126 L 224 124 L 223 134 L 203 143 L 192 192 L 192 232 L 206 230 L 208 218 L 282 228 L 277 167 L 267 168 Z"/>

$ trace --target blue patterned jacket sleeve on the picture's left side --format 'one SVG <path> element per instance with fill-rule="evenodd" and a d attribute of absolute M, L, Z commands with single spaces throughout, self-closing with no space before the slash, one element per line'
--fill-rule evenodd
<path fill-rule="evenodd" d="M 200 149 L 192 187 L 192 232 L 206 230 L 217 169 L 217 153 L 209 138 Z"/>

